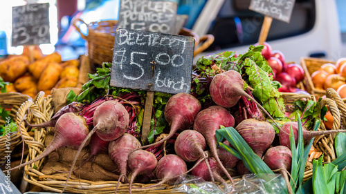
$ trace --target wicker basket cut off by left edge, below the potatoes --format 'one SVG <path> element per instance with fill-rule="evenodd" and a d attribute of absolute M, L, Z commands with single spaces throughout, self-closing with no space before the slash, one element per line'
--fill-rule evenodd
<path fill-rule="evenodd" d="M 0 94 L 0 105 L 1 108 L 6 108 L 10 110 L 10 117 L 12 117 L 13 121 L 18 122 L 16 117 L 16 113 L 19 109 L 19 106 L 31 99 L 28 95 L 23 95 L 21 93 L 1 93 Z M 6 124 L 6 121 L 0 117 L 0 125 Z M 18 128 L 18 127 L 17 127 Z M 10 133 L 10 141 L 6 136 L 0 137 L 0 166 L 6 162 L 5 151 L 13 151 L 15 146 L 21 143 L 21 136 L 19 133 L 12 132 Z M 9 148 L 9 149 L 8 149 Z"/>

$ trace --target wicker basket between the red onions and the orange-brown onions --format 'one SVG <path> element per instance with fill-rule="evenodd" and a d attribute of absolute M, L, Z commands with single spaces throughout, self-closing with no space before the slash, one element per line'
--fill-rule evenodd
<path fill-rule="evenodd" d="M 307 90 L 308 93 L 314 95 L 316 99 L 325 95 L 326 91 L 320 88 L 315 88 L 315 86 L 313 86 L 313 83 L 311 81 L 311 75 L 316 70 L 319 70 L 323 64 L 327 64 L 327 63 L 335 64 L 335 61 L 329 61 L 325 59 L 318 59 L 318 58 L 311 58 L 311 57 L 302 57 L 300 59 L 300 65 L 304 69 L 304 74 L 305 74 L 304 80 L 303 80 L 304 88 L 305 90 Z"/>

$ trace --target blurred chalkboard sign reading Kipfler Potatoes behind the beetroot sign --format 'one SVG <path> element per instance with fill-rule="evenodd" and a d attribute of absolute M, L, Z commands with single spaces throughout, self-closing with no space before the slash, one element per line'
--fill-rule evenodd
<path fill-rule="evenodd" d="M 173 34 L 177 8 L 172 1 L 120 0 L 118 28 Z"/>

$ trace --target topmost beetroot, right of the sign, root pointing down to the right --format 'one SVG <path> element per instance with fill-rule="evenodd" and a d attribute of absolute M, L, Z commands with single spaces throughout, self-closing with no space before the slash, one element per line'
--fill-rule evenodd
<path fill-rule="evenodd" d="M 235 106 L 242 96 L 251 99 L 251 101 L 254 101 L 257 106 L 260 107 L 263 112 L 273 120 L 277 128 L 280 128 L 280 126 L 277 125 L 273 117 L 271 117 L 266 109 L 264 109 L 253 97 L 251 97 L 251 95 L 248 95 L 248 93 L 244 91 L 244 80 L 239 72 L 235 70 L 228 70 L 215 75 L 210 83 L 209 91 L 212 101 L 219 106 L 224 106 L 225 108 Z"/>

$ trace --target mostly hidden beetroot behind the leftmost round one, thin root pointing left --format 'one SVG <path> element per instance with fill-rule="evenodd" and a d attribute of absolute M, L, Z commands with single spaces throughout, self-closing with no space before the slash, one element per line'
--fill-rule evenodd
<path fill-rule="evenodd" d="M 30 127 L 53 127 L 57 123 L 57 119 L 59 119 L 62 115 L 65 113 L 78 113 L 80 110 L 82 110 L 82 106 L 83 105 L 81 103 L 73 101 L 71 104 L 68 104 L 67 106 L 64 106 L 58 110 L 48 122 L 44 122 L 42 124 L 30 124 L 28 121 L 26 121 L 26 119 L 24 119 L 24 122 L 26 122 L 26 124 Z"/>

